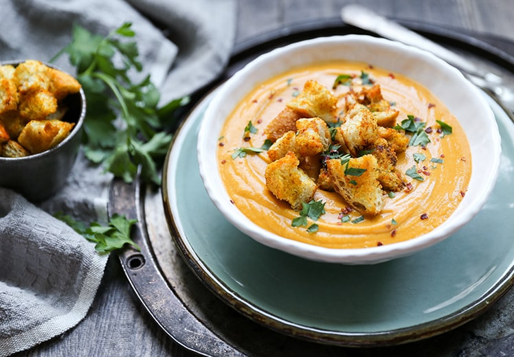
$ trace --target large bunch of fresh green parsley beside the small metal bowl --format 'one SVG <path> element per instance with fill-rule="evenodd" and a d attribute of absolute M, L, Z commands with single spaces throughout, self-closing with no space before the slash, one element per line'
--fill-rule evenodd
<path fill-rule="evenodd" d="M 75 25 L 71 43 L 51 61 L 66 53 L 76 67 L 87 99 L 86 157 L 127 183 L 141 165 L 142 179 L 159 185 L 158 170 L 172 139 L 167 131 L 175 125 L 172 113 L 188 98 L 158 107 L 160 93 L 150 77 L 133 82 L 131 76 L 143 69 L 133 37 L 131 23 L 105 37 Z"/>

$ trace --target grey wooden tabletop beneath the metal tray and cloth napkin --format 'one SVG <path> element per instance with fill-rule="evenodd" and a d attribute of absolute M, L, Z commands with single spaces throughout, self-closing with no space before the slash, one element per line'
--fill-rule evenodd
<path fill-rule="evenodd" d="M 241 0 L 238 1 L 236 44 L 281 27 L 306 21 L 334 19 L 344 0 Z M 375 11 L 404 21 L 423 21 L 463 31 L 486 33 L 514 41 L 512 0 L 362 0 Z M 500 316 L 501 317 L 501 316 Z M 499 318 L 500 318 L 499 317 Z M 514 321 L 511 321 L 511 326 Z M 445 343 L 435 338 L 434 343 Z M 514 356 L 514 333 L 483 347 L 476 354 Z M 488 342 L 488 343 L 494 343 Z M 440 349 L 442 350 L 442 349 Z M 473 356 L 469 343 L 454 341 L 446 356 Z M 383 351 L 382 351 L 383 352 Z M 488 353 L 489 354 L 489 353 Z M 341 349 L 341 356 L 373 356 L 366 350 Z M 104 279 L 86 318 L 62 336 L 16 356 L 194 356 L 172 342 L 150 318 L 135 297 L 120 262 L 112 255 Z"/>

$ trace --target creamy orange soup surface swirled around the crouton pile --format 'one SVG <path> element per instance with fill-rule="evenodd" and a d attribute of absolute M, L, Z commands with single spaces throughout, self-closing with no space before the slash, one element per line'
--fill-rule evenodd
<path fill-rule="evenodd" d="M 361 76 L 362 73 L 380 84 L 383 98 L 399 111 L 398 124 L 407 119 L 407 115 L 426 123 L 424 129 L 429 143 L 426 146 L 409 146 L 397 155 L 396 165 L 404 174 L 415 165 L 423 181 L 405 175 L 406 188 L 394 194 L 384 192 L 385 204 L 377 216 L 362 216 L 356 210 L 347 213 L 348 204 L 339 194 L 318 188 L 314 199 L 325 203 L 325 214 L 315 222 L 319 226 L 317 231 L 309 233 L 306 227 L 293 227 L 291 222 L 299 212 L 291 209 L 287 202 L 278 200 L 266 187 L 265 169 L 271 162 L 267 152 L 247 151 L 244 157 L 234 153 L 240 148 L 260 148 L 265 143 L 267 124 L 302 91 L 307 80 L 315 80 L 333 91 L 336 97 L 343 97 L 350 87 L 338 85 L 333 89 L 337 76 Z M 353 87 L 353 90 L 359 91 L 360 88 Z M 443 135 L 436 120 L 451 126 L 451 134 Z M 243 134 L 249 122 L 257 131 L 245 140 Z M 219 136 L 219 170 L 234 205 L 268 231 L 328 248 L 353 249 L 392 244 L 431 231 L 456 209 L 471 176 L 471 151 L 467 137 L 443 102 L 421 84 L 400 73 L 361 62 L 325 62 L 300 67 L 262 82 L 234 108 Z M 415 153 L 423 154 L 425 159 L 419 161 Z M 418 161 L 414 160 L 415 156 Z M 348 216 L 349 220 L 342 219 L 343 216 Z"/>

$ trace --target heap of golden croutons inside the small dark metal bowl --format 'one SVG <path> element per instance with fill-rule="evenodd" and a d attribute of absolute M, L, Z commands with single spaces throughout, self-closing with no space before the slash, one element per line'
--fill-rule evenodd
<path fill-rule="evenodd" d="M 53 148 L 74 123 L 62 100 L 80 91 L 69 74 L 37 60 L 0 66 L 0 156 L 25 157 Z"/>

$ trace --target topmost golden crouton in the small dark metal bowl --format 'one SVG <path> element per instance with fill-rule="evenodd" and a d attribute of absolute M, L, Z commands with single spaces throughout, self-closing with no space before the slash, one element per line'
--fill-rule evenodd
<path fill-rule="evenodd" d="M 49 67 L 43 65 L 38 60 L 26 60 L 20 63 L 14 71 L 18 91 L 20 93 L 39 90 L 47 91 L 50 86 L 48 69 Z"/>

